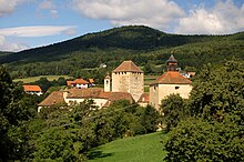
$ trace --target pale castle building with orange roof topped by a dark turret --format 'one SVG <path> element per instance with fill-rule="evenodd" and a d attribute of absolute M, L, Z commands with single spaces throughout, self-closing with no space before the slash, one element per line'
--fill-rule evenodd
<path fill-rule="evenodd" d="M 173 54 L 166 64 L 167 71 L 150 84 L 150 104 L 156 110 L 165 97 L 180 94 L 183 99 L 187 99 L 192 90 L 191 81 L 176 70 L 177 60 Z"/>

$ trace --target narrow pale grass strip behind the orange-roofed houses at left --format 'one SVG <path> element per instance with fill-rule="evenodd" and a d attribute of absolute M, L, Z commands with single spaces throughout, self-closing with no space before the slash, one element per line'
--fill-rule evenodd
<path fill-rule="evenodd" d="M 24 78 L 24 79 L 14 79 L 13 82 L 22 81 L 23 83 L 30 83 L 30 82 L 38 81 L 40 78 L 47 78 L 49 81 L 53 81 L 53 80 L 58 80 L 61 77 L 65 79 L 71 78 L 68 75 L 39 75 L 39 77 L 30 77 L 30 78 Z"/>

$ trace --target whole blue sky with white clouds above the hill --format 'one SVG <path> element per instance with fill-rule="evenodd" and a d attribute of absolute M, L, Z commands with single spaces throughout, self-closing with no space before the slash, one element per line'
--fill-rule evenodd
<path fill-rule="evenodd" d="M 106 29 L 167 33 L 244 31 L 244 0 L 0 0 L 0 51 L 21 51 Z"/>

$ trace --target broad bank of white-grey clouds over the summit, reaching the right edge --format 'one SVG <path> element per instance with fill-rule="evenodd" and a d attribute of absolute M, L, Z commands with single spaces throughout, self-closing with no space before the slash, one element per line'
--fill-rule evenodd
<path fill-rule="evenodd" d="M 73 8 L 91 19 L 113 26 L 144 24 L 176 33 L 233 33 L 244 30 L 244 4 L 232 0 L 191 3 L 184 11 L 174 0 L 73 0 Z M 186 3 L 186 2 L 185 2 Z M 205 4 L 207 4 L 205 7 Z"/>

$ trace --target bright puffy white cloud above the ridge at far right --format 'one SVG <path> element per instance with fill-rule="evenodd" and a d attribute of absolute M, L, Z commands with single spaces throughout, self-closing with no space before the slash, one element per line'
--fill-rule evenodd
<path fill-rule="evenodd" d="M 200 7 L 181 18 L 177 33 L 222 34 L 244 30 L 244 4 L 236 7 L 232 0 L 218 1 L 212 10 Z"/>

